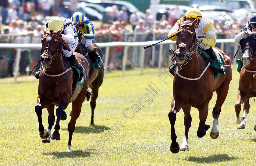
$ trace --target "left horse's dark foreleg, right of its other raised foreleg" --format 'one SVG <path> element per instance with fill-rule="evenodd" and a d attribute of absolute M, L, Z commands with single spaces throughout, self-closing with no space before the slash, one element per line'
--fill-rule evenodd
<path fill-rule="evenodd" d="M 65 98 L 65 99 L 64 99 Z M 67 108 L 69 105 L 68 97 L 64 97 L 63 100 L 60 102 L 59 107 L 56 109 L 56 124 L 54 127 L 54 132 L 52 133 L 52 139 L 53 140 L 60 140 L 60 134 L 59 134 L 59 121 L 60 117 L 63 115 L 63 111 Z"/>

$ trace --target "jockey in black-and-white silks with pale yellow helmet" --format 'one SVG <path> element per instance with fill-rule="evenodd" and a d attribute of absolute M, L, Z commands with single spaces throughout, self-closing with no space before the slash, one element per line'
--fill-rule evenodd
<path fill-rule="evenodd" d="M 70 62 L 73 62 L 71 64 L 75 64 L 75 66 L 81 71 L 80 72 L 80 79 L 84 76 L 84 67 L 81 66 L 81 64 L 78 62 L 78 59 L 73 54 L 75 52 L 75 49 L 78 45 L 78 38 L 76 31 L 76 28 L 74 27 L 73 23 L 63 17 L 53 17 L 52 19 L 49 19 L 46 21 L 46 25 L 44 27 L 47 31 L 54 30 L 59 31 L 62 28 L 61 31 L 61 38 L 64 40 L 67 45 L 69 46 L 71 51 L 62 49 L 63 55 L 69 60 Z M 40 70 L 35 73 L 35 77 L 39 78 Z"/>

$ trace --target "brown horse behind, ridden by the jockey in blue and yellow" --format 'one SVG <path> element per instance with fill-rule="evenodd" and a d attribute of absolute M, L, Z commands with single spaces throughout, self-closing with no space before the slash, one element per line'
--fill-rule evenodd
<path fill-rule="evenodd" d="M 79 30 L 79 23 L 73 23 L 74 26 L 76 27 L 76 30 L 78 32 L 80 32 Z M 81 42 L 81 37 L 78 35 L 79 38 L 79 43 Z M 95 43 L 92 43 L 92 46 L 94 46 L 95 48 L 97 48 L 98 53 L 101 57 L 101 60 L 103 61 L 104 59 L 104 54 L 101 50 L 101 48 L 96 45 Z M 85 48 L 82 48 L 82 44 L 79 44 L 79 47 L 75 50 L 76 52 L 82 54 L 85 56 L 86 51 Z M 102 82 L 103 82 L 103 77 L 104 77 L 104 66 L 103 63 L 101 63 L 100 65 L 100 69 L 94 69 L 92 70 L 92 60 L 91 57 L 89 55 L 86 56 L 86 59 L 89 63 L 89 72 L 91 72 L 91 77 L 89 78 L 89 86 L 91 88 L 91 124 L 94 125 L 94 109 L 96 107 L 96 99 L 98 98 L 98 93 L 99 93 L 99 87 L 101 86 Z M 92 71 L 91 71 L 92 70 Z"/>

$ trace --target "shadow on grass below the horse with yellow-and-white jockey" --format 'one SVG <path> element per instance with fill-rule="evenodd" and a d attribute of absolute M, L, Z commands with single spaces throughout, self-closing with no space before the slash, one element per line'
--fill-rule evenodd
<path fill-rule="evenodd" d="M 193 157 L 190 156 L 187 158 L 187 161 L 194 161 L 197 163 L 214 163 L 219 161 L 230 161 L 230 160 L 236 160 L 235 157 L 229 157 L 227 154 L 215 154 L 208 157 Z"/>

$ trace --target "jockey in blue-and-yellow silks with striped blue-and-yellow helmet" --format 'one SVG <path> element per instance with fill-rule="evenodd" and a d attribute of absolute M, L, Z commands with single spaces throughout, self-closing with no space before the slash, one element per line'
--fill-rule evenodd
<path fill-rule="evenodd" d="M 84 40 L 82 45 L 94 54 L 89 54 L 93 63 L 97 60 L 97 63 L 94 63 L 95 67 L 93 69 L 100 69 L 100 65 L 102 63 L 101 57 L 99 56 L 97 48 L 91 45 L 92 41 L 95 38 L 93 23 L 81 12 L 75 12 L 71 17 L 71 20 L 73 22 L 80 23 L 79 29 L 84 34 Z"/>

